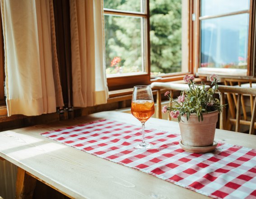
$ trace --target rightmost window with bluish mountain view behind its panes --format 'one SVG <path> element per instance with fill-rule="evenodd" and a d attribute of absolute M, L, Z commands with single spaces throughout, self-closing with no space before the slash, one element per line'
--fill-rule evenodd
<path fill-rule="evenodd" d="M 250 0 L 200 0 L 199 74 L 251 74 Z"/>

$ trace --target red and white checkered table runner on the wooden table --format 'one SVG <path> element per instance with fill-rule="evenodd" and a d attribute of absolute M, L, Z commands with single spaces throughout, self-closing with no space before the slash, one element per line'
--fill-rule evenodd
<path fill-rule="evenodd" d="M 98 157 L 157 176 L 215 199 L 256 199 L 256 150 L 218 143 L 213 153 L 189 153 L 180 135 L 149 129 L 145 139 L 153 149 L 138 150 L 141 127 L 97 120 L 42 136 Z"/>

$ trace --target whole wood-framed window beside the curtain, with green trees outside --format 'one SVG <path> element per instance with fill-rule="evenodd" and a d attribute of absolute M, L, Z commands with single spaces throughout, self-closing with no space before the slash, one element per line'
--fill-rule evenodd
<path fill-rule="evenodd" d="M 104 18 L 110 90 L 191 72 L 188 0 L 104 0 Z"/>

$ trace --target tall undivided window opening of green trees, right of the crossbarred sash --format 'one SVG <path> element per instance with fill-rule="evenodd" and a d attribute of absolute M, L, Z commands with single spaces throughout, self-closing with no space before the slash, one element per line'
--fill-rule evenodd
<path fill-rule="evenodd" d="M 182 71 L 182 34 L 188 38 L 187 30 L 182 33 L 182 2 L 149 1 L 152 76 Z"/>

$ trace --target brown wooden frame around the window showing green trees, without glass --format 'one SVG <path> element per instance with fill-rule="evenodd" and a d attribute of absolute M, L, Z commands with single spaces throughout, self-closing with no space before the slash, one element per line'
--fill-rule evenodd
<path fill-rule="evenodd" d="M 116 76 L 116 77 L 107 77 L 107 85 L 110 91 L 116 89 L 125 89 L 125 88 L 132 88 L 135 85 L 147 85 L 152 82 L 169 82 L 169 81 L 177 81 L 183 79 L 185 74 L 193 74 L 193 23 L 191 19 L 192 9 L 193 9 L 193 0 L 189 0 L 189 17 L 188 17 L 188 48 L 189 48 L 189 55 L 188 55 L 188 72 L 178 72 L 178 73 L 171 73 L 162 75 L 159 78 L 151 78 L 150 77 L 150 23 L 149 23 L 149 0 L 145 0 L 145 9 L 144 13 L 140 12 L 128 12 L 128 11 L 121 11 L 115 9 L 103 9 L 104 14 L 115 14 L 121 16 L 140 16 L 144 17 L 145 20 L 145 31 L 144 32 L 144 57 L 145 57 L 145 71 L 144 74 L 132 74 L 132 75 L 124 75 L 124 76 Z"/>

